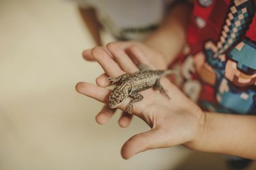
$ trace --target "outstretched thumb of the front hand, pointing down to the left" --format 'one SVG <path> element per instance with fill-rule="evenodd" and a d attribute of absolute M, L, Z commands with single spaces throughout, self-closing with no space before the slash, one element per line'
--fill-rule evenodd
<path fill-rule="evenodd" d="M 146 150 L 161 148 L 161 133 L 157 129 L 152 129 L 147 132 L 136 134 L 125 142 L 121 150 L 121 155 L 124 159 L 129 159 L 136 153 Z"/>

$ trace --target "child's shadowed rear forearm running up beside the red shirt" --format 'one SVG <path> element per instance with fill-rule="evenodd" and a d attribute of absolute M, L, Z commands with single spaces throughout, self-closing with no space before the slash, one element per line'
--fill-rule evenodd
<path fill-rule="evenodd" d="M 168 64 L 172 63 L 184 46 L 191 10 L 191 3 L 176 4 L 163 18 L 159 29 L 143 41 L 145 45 L 161 52 Z"/>

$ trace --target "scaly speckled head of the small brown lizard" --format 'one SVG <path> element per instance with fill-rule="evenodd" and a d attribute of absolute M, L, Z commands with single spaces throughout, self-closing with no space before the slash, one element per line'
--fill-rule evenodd
<path fill-rule="evenodd" d="M 109 96 L 109 108 L 117 108 L 129 96 L 129 92 L 115 88 Z"/>

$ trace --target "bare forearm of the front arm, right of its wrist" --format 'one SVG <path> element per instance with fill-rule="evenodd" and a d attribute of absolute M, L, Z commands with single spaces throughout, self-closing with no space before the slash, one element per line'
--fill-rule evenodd
<path fill-rule="evenodd" d="M 201 132 L 185 146 L 202 152 L 224 153 L 256 159 L 256 117 L 205 113 Z"/>

